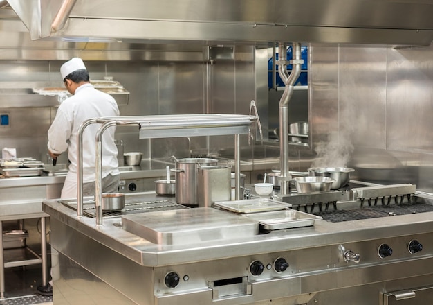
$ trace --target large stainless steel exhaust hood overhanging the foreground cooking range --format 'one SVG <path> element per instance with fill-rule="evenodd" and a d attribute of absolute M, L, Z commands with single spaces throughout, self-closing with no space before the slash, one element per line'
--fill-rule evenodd
<path fill-rule="evenodd" d="M 429 45 L 430 0 L 7 0 L 32 40 Z"/>

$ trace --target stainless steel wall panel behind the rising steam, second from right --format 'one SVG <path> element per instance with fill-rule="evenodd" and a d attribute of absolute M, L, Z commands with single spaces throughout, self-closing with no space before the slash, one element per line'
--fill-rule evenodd
<path fill-rule="evenodd" d="M 340 48 L 339 70 L 339 147 L 386 148 L 386 47 Z"/>

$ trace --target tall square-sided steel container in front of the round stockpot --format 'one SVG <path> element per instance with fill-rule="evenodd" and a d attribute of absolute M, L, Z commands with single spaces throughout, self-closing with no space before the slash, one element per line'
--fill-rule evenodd
<path fill-rule="evenodd" d="M 199 166 L 199 207 L 212 207 L 216 201 L 231 200 L 230 171 L 230 166 Z"/>

